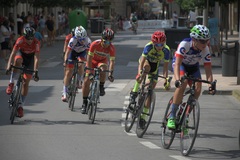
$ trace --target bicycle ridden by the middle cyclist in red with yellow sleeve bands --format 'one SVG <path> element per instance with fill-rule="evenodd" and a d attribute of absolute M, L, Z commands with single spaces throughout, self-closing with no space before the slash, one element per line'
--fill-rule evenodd
<path fill-rule="evenodd" d="M 88 68 L 85 67 L 85 70 L 92 70 L 94 71 L 93 77 L 89 77 L 92 81 L 90 85 L 90 92 L 88 96 L 88 103 L 87 103 L 87 114 L 88 119 L 93 124 L 96 117 L 97 112 L 97 104 L 100 103 L 100 72 L 111 72 L 109 70 L 102 71 L 101 68 Z"/>

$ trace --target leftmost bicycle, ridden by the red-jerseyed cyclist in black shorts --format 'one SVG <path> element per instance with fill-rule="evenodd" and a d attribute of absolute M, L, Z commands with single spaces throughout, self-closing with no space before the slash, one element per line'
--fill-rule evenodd
<path fill-rule="evenodd" d="M 11 124 L 13 124 L 14 119 L 17 116 L 18 106 L 21 105 L 21 92 L 22 92 L 22 87 L 23 87 L 23 83 L 24 83 L 23 75 L 26 72 L 31 72 L 31 73 L 34 72 L 34 70 L 27 69 L 25 66 L 18 67 L 18 66 L 11 65 L 10 70 L 12 68 L 19 69 L 21 71 L 21 73 L 19 74 L 17 83 L 14 86 L 13 91 L 10 95 L 9 100 L 8 100 L 9 109 L 11 110 L 11 113 L 10 113 Z"/>

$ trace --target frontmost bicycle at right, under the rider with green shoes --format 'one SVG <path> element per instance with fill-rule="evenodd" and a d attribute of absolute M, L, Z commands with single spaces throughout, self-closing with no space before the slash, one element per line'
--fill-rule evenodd
<path fill-rule="evenodd" d="M 188 76 L 184 76 L 182 78 L 182 82 L 184 80 L 190 80 L 192 81 L 192 85 L 190 86 L 190 89 L 185 91 L 184 97 L 189 95 L 187 98 L 187 101 L 183 101 L 176 112 L 176 128 L 175 129 L 168 129 L 167 122 L 169 119 L 169 116 L 171 114 L 170 106 L 173 102 L 173 97 L 170 98 L 164 117 L 162 121 L 162 134 L 161 134 L 161 143 L 163 148 L 169 149 L 176 133 L 180 133 L 180 150 L 181 154 L 183 156 L 189 155 L 191 152 L 197 132 L 198 132 L 198 126 L 199 126 L 199 120 L 200 120 L 200 105 L 197 99 L 194 98 L 195 95 L 195 87 L 196 82 L 202 82 L 211 84 L 211 90 L 216 91 L 216 83 L 217 81 L 207 81 L 207 80 L 201 80 L 196 79 Z M 209 88 L 210 90 L 210 88 Z"/>

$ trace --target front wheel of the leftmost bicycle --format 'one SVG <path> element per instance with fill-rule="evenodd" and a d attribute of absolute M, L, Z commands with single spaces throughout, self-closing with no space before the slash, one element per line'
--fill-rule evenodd
<path fill-rule="evenodd" d="M 20 96 L 21 96 L 21 90 L 22 90 L 22 82 L 17 82 L 19 83 L 19 85 L 17 84 L 14 87 L 14 91 L 13 91 L 13 102 L 12 102 L 12 108 L 11 108 L 11 114 L 10 114 L 10 121 L 11 124 L 14 123 L 14 119 L 17 116 L 17 108 L 18 108 L 18 104 L 20 101 Z"/>

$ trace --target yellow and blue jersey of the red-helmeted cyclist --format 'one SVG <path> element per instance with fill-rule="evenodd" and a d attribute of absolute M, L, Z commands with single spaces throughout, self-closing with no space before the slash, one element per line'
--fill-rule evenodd
<path fill-rule="evenodd" d="M 151 63 L 158 63 L 161 60 L 169 62 L 170 48 L 165 44 L 162 50 L 157 51 L 151 41 L 145 45 L 142 56 L 146 57 L 146 59 Z"/>

